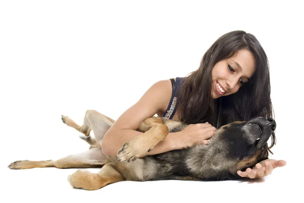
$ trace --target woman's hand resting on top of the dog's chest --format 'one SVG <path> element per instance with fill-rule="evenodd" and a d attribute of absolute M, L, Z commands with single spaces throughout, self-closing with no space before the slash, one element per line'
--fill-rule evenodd
<path fill-rule="evenodd" d="M 177 149 L 192 147 L 195 144 L 208 145 L 208 140 L 216 132 L 216 128 L 206 123 L 191 124 L 179 132 Z"/>

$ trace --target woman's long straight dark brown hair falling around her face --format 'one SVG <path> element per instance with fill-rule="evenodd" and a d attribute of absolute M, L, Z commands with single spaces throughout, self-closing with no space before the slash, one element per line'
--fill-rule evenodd
<path fill-rule="evenodd" d="M 255 56 L 255 73 L 238 92 L 212 99 L 214 65 L 241 49 L 248 49 Z M 213 126 L 217 125 L 217 119 L 221 126 L 257 116 L 273 117 L 270 91 L 269 63 L 262 46 L 252 34 L 232 31 L 217 39 L 204 54 L 199 69 L 182 81 L 177 92 L 179 117 L 185 123 L 209 122 Z M 220 108 L 220 114 L 216 107 Z M 271 147 L 275 144 L 274 134 L 272 141 Z"/>

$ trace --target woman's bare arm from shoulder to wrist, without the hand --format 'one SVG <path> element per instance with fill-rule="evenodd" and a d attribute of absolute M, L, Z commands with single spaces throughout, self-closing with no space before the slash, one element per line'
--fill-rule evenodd
<path fill-rule="evenodd" d="M 172 86 L 170 80 L 163 80 L 151 86 L 139 101 L 125 111 L 106 132 L 102 141 L 102 152 L 117 156 L 118 150 L 133 138 L 142 134 L 136 131 L 146 118 L 154 116 L 158 111 L 164 112 L 170 102 Z M 175 149 L 175 133 L 168 136 L 151 150 L 148 155 L 159 154 Z"/>

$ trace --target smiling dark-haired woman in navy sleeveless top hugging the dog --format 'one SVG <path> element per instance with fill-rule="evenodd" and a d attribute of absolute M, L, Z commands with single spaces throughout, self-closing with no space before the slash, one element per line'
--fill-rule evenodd
<path fill-rule="evenodd" d="M 192 125 L 169 133 L 145 155 L 197 143 L 207 145 L 221 125 L 257 116 L 272 117 L 269 65 L 263 48 L 250 33 L 226 33 L 207 50 L 197 71 L 186 78 L 155 83 L 125 111 L 105 134 L 103 153 L 116 156 L 124 143 L 142 133 L 136 131 L 139 124 L 155 114 Z M 260 178 L 285 164 L 284 160 L 267 159 L 237 173 Z"/>

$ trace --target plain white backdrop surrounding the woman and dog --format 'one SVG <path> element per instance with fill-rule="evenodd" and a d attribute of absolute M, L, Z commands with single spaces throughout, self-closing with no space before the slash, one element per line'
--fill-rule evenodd
<path fill-rule="evenodd" d="M 13 202 L 292 200 L 302 184 L 303 14 L 288 1 L 1 1 L 1 197 Z M 15 160 L 58 159 L 88 145 L 61 114 L 117 119 L 159 80 L 199 67 L 226 32 L 253 33 L 270 62 L 277 145 L 287 165 L 261 180 L 121 182 L 73 189 L 74 169 L 9 170 Z M 96 172 L 96 169 L 89 171 Z"/>

